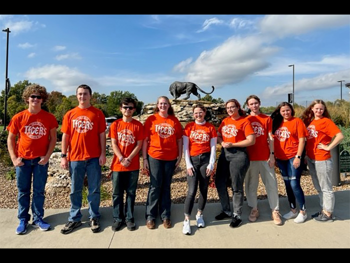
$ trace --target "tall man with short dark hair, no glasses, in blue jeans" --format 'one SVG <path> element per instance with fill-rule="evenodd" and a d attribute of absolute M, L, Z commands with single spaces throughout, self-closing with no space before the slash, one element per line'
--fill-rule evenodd
<path fill-rule="evenodd" d="M 101 166 L 106 162 L 106 125 L 102 111 L 90 104 L 91 94 L 89 86 L 78 86 L 76 98 L 79 105 L 63 117 L 61 167 L 69 168 L 71 175 L 71 206 L 68 222 L 61 229 L 62 234 L 68 234 L 81 225 L 80 208 L 85 174 L 88 183 L 89 225 L 93 233 L 100 230 Z"/>

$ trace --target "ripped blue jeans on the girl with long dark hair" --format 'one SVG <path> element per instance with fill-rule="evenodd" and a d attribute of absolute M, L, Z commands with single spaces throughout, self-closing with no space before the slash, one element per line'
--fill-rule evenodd
<path fill-rule="evenodd" d="M 276 162 L 284 180 L 285 190 L 287 192 L 290 208 L 296 209 L 296 197 L 296 200 L 300 206 L 300 210 L 303 211 L 306 209 L 306 207 L 304 192 L 302 191 L 300 185 L 302 167 L 300 165 L 297 169 L 294 168 L 294 158 L 295 157 L 289 160 L 276 159 Z"/>

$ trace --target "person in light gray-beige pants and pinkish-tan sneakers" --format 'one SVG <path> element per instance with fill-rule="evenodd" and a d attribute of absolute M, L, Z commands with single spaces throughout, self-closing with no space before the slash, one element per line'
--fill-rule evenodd
<path fill-rule="evenodd" d="M 248 220 L 255 222 L 259 217 L 256 192 L 260 174 L 272 210 L 273 223 L 281 225 L 277 179 L 274 173 L 272 119 L 260 112 L 260 99 L 257 96 L 249 96 L 246 104 L 250 110 L 247 119 L 255 133 L 255 144 L 246 148 L 250 160 L 250 166 L 245 175 L 245 195 L 248 206 L 251 207 Z"/>

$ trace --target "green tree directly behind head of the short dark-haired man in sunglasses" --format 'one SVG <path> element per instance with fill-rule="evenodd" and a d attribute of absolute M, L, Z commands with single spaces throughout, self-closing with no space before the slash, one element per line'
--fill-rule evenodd
<path fill-rule="evenodd" d="M 107 99 L 107 114 L 106 117 L 116 116 L 117 118 L 121 117 L 120 112 L 120 102 L 123 98 L 132 98 L 137 100 L 136 96 L 133 93 L 128 91 L 112 91 Z M 141 112 L 143 102 L 137 101 L 136 111 L 134 115 L 137 115 Z"/>

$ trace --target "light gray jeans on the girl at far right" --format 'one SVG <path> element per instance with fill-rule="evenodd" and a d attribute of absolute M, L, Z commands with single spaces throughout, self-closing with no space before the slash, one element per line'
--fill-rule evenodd
<path fill-rule="evenodd" d="M 315 161 L 307 158 L 307 165 L 308 169 L 310 170 L 313 186 L 318 192 L 322 209 L 328 213 L 332 213 L 335 203 L 331 180 L 333 171 L 332 159 Z"/>

